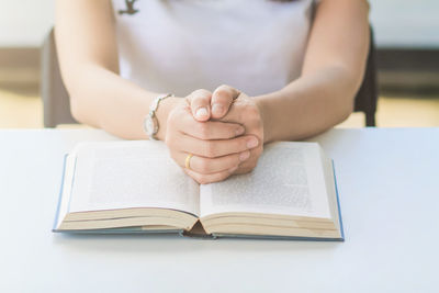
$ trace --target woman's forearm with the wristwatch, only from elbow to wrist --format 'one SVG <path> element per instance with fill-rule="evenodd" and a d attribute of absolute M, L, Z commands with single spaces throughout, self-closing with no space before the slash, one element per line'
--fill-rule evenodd
<path fill-rule="evenodd" d="M 142 89 L 95 65 L 79 67 L 77 71 L 66 74 L 69 76 L 66 80 L 75 119 L 123 138 L 147 138 L 143 121 L 149 112 L 149 104 L 159 93 Z M 157 112 L 159 138 L 164 137 L 167 115 L 175 100 L 169 98 L 160 103 Z"/>

